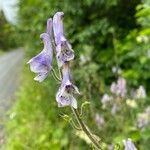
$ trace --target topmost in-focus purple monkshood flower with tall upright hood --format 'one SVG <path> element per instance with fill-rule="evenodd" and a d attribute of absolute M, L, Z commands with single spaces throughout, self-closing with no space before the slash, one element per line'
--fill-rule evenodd
<path fill-rule="evenodd" d="M 74 51 L 64 36 L 63 12 L 57 12 L 53 17 L 53 30 L 56 43 L 56 58 L 59 67 L 74 59 Z"/>

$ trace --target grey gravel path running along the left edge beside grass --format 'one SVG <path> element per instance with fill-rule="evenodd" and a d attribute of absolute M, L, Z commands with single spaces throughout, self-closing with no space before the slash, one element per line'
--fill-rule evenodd
<path fill-rule="evenodd" d="M 0 149 L 4 142 L 4 122 L 11 106 L 14 93 L 19 85 L 24 52 L 17 49 L 0 56 Z"/>

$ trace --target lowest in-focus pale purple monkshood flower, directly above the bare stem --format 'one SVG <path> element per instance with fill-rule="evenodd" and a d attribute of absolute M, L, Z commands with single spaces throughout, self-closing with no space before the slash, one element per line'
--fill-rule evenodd
<path fill-rule="evenodd" d="M 62 76 L 62 83 L 56 94 L 58 107 L 71 106 L 77 109 L 77 101 L 74 98 L 74 94 L 79 94 L 79 90 L 70 80 L 69 64 L 63 65 Z"/>

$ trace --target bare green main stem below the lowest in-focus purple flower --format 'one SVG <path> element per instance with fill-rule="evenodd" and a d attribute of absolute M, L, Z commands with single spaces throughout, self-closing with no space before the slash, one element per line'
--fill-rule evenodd
<path fill-rule="evenodd" d="M 85 134 L 89 137 L 89 139 L 91 140 L 91 142 L 93 143 L 94 147 L 98 150 L 103 150 L 102 147 L 99 145 L 99 143 L 93 138 L 91 132 L 87 129 L 86 125 L 84 124 L 84 122 L 82 121 L 82 119 L 80 118 L 79 112 L 77 109 L 72 108 L 72 111 L 78 121 L 78 123 L 80 124 L 82 130 L 85 132 Z"/>

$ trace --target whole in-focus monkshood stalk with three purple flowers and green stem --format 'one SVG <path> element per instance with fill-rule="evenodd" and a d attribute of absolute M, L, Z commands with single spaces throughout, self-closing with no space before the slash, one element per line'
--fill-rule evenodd
<path fill-rule="evenodd" d="M 31 71 L 37 73 L 35 80 L 39 82 L 45 80 L 49 72 L 52 72 L 53 77 L 60 82 L 60 87 L 56 94 L 58 107 L 70 106 L 79 127 L 76 126 L 72 119 L 68 119 L 68 116 L 64 116 L 64 119 L 68 120 L 75 129 L 83 131 L 95 149 L 103 150 L 102 142 L 99 143 L 99 140 L 91 133 L 81 118 L 83 106 L 81 106 L 81 114 L 78 112 L 78 103 L 74 95 L 80 94 L 80 92 L 77 86 L 73 84 L 70 73 L 70 61 L 74 59 L 74 51 L 64 35 L 63 16 L 63 12 L 57 12 L 53 19 L 49 18 L 47 20 L 46 33 L 40 36 L 44 42 L 43 51 L 33 57 L 28 63 Z M 53 52 L 56 55 L 59 76 L 52 67 Z"/>

